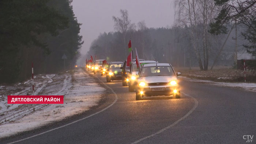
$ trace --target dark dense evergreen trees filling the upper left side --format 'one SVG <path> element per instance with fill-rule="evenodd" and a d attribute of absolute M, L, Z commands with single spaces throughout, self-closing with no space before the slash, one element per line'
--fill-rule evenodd
<path fill-rule="evenodd" d="M 0 83 L 20 82 L 34 73 L 75 64 L 83 44 L 72 0 L 0 1 Z M 66 66 L 66 68 L 67 68 Z"/>

